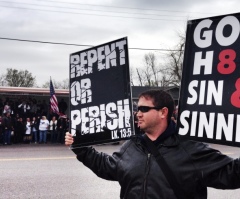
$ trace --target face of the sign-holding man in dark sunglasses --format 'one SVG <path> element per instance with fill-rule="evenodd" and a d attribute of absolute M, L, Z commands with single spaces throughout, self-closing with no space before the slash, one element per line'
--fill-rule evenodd
<path fill-rule="evenodd" d="M 138 107 L 148 106 L 154 107 L 151 99 L 146 99 L 145 97 L 140 97 L 138 101 Z M 150 109 L 148 112 L 137 112 L 138 126 L 141 130 L 151 133 L 153 132 L 160 122 L 161 111 L 156 109 Z"/>

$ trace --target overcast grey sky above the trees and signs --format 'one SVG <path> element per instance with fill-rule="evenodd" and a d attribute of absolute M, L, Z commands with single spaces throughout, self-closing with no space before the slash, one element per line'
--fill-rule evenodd
<path fill-rule="evenodd" d="M 0 0 L 0 38 L 96 46 L 128 37 L 129 48 L 170 49 L 187 20 L 240 11 L 239 0 Z M 0 39 L 0 75 L 28 70 L 41 86 L 69 77 L 69 55 L 89 47 Z M 129 50 L 130 67 L 165 51 Z"/>

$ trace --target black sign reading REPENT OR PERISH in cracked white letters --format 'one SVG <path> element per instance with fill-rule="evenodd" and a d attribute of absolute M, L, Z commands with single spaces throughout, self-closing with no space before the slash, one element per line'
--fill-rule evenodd
<path fill-rule="evenodd" d="M 70 55 L 70 112 L 73 147 L 132 135 L 127 38 Z"/>

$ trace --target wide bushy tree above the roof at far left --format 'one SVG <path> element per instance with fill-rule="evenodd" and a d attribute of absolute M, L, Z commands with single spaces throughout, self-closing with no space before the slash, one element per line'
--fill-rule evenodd
<path fill-rule="evenodd" d="M 27 70 L 16 70 L 7 68 L 5 80 L 8 86 L 14 87 L 33 87 L 35 85 L 35 77 Z"/>

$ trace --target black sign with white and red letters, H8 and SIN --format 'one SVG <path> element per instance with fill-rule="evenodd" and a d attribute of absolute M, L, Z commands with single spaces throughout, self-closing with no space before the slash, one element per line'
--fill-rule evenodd
<path fill-rule="evenodd" d="M 240 14 L 188 21 L 178 129 L 240 146 Z"/>

